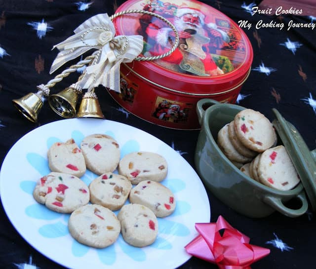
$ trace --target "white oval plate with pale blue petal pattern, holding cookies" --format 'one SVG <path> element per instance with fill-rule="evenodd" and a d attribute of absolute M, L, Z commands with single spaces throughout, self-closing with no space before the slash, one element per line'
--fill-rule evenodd
<path fill-rule="evenodd" d="M 94 133 L 113 136 L 120 146 L 121 157 L 133 151 L 150 151 L 166 158 L 169 169 L 161 183 L 174 192 L 177 206 L 172 215 L 158 218 L 158 238 L 153 245 L 132 247 L 120 235 L 105 249 L 84 246 L 71 237 L 68 214 L 50 211 L 33 198 L 37 180 L 50 172 L 48 148 L 54 142 L 70 138 L 79 145 L 84 136 Z M 88 185 L 95 177 L 87 170 L 81 179 Z M 71 269 L 177 268 L 191 257 L 184 246 L 197 235 L 195 223 L 210 221 L 206 191 L 189 163 L 156 137 L 111 120 L 65 119 L 23 136 L 2 163 L 0 195 L 8 218 L 21 236 L 49 259 Z"/>

